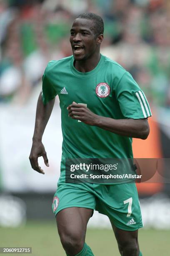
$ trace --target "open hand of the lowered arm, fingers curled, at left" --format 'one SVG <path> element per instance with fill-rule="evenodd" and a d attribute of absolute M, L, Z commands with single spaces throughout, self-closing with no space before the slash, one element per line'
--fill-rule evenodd
<path fill-rule="evenodd" d="M 35 171 L 45 174 L 45 172 L 41 169 L 41 167 L 38 165 L 38 157 L 42 156 L 44 159 L 44 163 L 45 165 L 48 167 L 48 159 L 47 159 L 47 153 L 45 151 L 45 147 L 42 144 L 42 142 L 33 142 L 32 143 L 32 148 L 31 148 L 31 152 L 30 152 L 30 163 L 32 166 L 32 169 L 34 169 Z"/>

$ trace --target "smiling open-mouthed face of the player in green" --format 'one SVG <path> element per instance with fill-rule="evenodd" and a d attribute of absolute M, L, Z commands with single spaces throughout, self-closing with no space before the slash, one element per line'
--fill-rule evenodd
<path fill-rule="evenodd" d="M 75 19 L 70 30 L 70 43 L 75 60 L 88 59 L 98 51 L 98 41 L 92 30 L 93 20 Z"/>

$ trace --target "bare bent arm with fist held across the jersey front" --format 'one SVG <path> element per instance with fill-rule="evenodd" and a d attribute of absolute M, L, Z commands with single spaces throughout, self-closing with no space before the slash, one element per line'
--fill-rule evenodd
<path fill-rule="evenodd" d="M 98 126 L 118 135 L 146 139 L 150 129 L 147 118 L 144 119 L 113 119 L 96 115 L 83 105 L 72 102 L 67 108 L 72 119 L 80 120 L 87 125 Z"/>

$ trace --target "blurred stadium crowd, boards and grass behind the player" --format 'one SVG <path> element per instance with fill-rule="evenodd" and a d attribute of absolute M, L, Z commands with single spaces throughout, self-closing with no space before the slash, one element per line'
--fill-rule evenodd
<path fill-rule="evenodd" d="M 0 246 L 65 255 L 51 211 L 62 143 L 58 99 L 43 137 L 50 164 L 40 160 L 45 176 L 31 169 L 28 156 L 43 71 L 51 59 L 72 54 L 70 26 L 84 12 L 102 16 L 102 54 L 125 67 L 150 102 L 150 136 L 133 141 L 134 156 L 170 158 L 169 0 L 0 0 Z M 146 256 L 169 254 L 169 166 L 152 182 L 138 184 Z M 87 242 L 97 256 L 118 255 L 104 215 L 90 219 Z"/>

